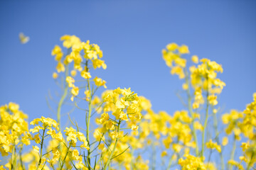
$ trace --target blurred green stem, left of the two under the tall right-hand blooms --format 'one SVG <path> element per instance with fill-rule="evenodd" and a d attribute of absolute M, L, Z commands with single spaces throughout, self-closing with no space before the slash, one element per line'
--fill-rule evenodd
<path fill-rule="evenodd" d="M 194 140 L 195 140 L 195 142 L 196 142 L 196 157 L 198 157 L 198 140 L 197 140 L 197 136 L 196 136 L 196 128 L 194 127 L 194 122 L 195 122 L 195 118 L 194 118 L 194 116 L 193 116 L 193 108 L 192 108 L 192 99 L 191 99 L 191 91 L 190 91 L 190 83 L 189 83 L 189 78 L 188 78 L 188 72 L 187 72 L 187 70 L 186 69 L 184 69 L 185 70 L 185 75 L 186 75 L 186 77 L 185 77 L 185 81 L 186 81 L 186 84 L 188 85 L 188 89 L 186 90 L 186 92 L 187 92 L 187 96 L 188 96 L 188 111 L 189 111 L 189 113 L 190 113 L 190 115 L 191 115 L 191 117 L 192 117 L 192 133 L 193 133 L 193 138 L 194 138 Z"/>

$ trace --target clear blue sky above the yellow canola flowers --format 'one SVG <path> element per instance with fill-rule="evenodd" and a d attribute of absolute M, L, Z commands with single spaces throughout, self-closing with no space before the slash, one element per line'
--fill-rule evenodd
<path fill-rule="evenodd" d="M 256 1 L 1 1 L 0 104 L 13 101 L 32 120 L 48 116 L 48 90 L 60 36 L 77 35 L 100 45 L 109 89 L 131 87 L 154 111 L 181 110 L 181 89 L 161 50 L 188 45 L 191 55 L 223 65 L 224 111 L 243 110 L 256 91 Z M 21 45 L 18 33 L 31 40 Z"/>

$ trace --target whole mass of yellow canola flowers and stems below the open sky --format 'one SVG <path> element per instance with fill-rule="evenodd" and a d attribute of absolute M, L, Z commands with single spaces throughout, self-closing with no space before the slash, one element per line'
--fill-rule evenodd
<path fill-rule="evenodd" d="M 0 152 L 6 161 L 0 169 L 255 169 L 256 93 L 245 111 L 221 114 L 218 95 L 225 83 L 217 62 L 196 55 L 188 60 L 186 45 L 166 45 L 164 61 L 183 81 L 178 96 L 184 108 L 156 113 L 144 96 L 130 88 L 107 89 L 105 80 L 92 76 L 107 68 L 98 45 L 75 35 L 60 40 L 66 50 L 52 50 L 53 79 L 62 90 L 57 120 L 42 116 L 28 123 L 18 104 L 1 106 Z M 107 90 L 96 95 L 102 87 Z M 61 125 L 66 103 L 75 108 L 70 113 L 84 113 L 83 125 L 70 115 L 68 126 Z"/>

